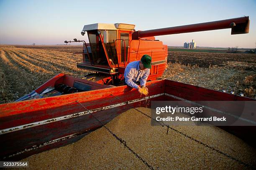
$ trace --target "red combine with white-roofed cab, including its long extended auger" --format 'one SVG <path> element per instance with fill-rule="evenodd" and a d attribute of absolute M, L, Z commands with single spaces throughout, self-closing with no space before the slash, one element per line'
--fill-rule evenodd
<path fill-rule="evenodd" d="M 134 28 L 135 25 L 122 23 L 84 25 L 81 34 L 87 32 L 90 47 L 82 41 L 83 60 L 77 62 L 77 67 L 108 75 L 109 77 L 97 81 L 100 84 L 119 85 L 123 80 L 125 66 L 148 54 L 152 57 L 152 69 L 148 80 L 153 81 L 163 74 L 168 56 L 167 45 L 155 40 L 154 36 L 225 28 L 231 28 L 231 34 L 243 34 L 249 32 L 249 18 L 233 18 L 146 31 L 135 31 Z M 78 41 L 74 39 L 69 42 Z"/>

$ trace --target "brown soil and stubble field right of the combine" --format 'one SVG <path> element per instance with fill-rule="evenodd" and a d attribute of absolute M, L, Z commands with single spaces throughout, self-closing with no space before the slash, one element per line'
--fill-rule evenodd
<path fill-rule="evenodd" d="M 256 98 L 256 55 L 169 52 L 166 78 Z"/>

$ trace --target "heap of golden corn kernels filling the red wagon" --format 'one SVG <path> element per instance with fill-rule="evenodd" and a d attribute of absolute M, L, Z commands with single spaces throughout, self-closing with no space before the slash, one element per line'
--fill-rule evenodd
<path fill-rule="evenodd" d="M 138 108 L 150 115 L 150 109 Z M 240 163 L 179 133 L 151 126 L 150 118 L 135 109 L 115 117 L 106 126 L 154 169 L 242 169 Z M 241 139 L 212 126 L 175 126 L 177 130 L 245 163 L 256 165 L 256 150 Z M 148 169 L 105 128 L 65 147 L 32 155 L 36 169 Z"/>

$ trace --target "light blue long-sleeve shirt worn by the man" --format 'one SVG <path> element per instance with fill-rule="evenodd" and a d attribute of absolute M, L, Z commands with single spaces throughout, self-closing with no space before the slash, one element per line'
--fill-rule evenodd
<path fill-rule="evenodd" d="M 125 67 L 124 78 L 125 83 L 128 86 L 138 89 L 138 85 L 135 82 L 140 82 L 141 86 L 146 86 L 146 81 L 150 73 L 150 69 L 140 70 L 140 61 L 130 62 Z"/>

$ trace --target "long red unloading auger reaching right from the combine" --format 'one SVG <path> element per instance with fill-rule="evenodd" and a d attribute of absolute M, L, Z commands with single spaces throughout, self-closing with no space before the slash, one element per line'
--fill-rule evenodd
<path fill-rule="evenodd" d="M 160 28 L 154 30 L 135 31 L 133 39 L 142 37 L 151 37 L 159 35 L 181 34 L 187 32 L 199 32 L 208 30 L 220 30 L 231 28 L 231 35 L 246 34 L 249 32 L 250 20 L 249 17 L 232 18 L 228 20 L 212 21 L 207 23 L 198 23 L 191 25 L 182 25 L 177 27 Z"/>

